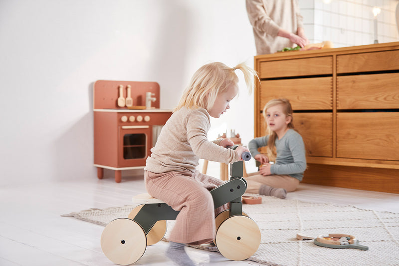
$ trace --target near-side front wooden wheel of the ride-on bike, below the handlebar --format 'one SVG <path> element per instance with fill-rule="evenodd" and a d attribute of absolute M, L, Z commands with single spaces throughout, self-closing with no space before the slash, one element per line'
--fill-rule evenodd
<path fill-rule="evenodd" d="M 232 261 L 251 257 L 260 245 L 260 230 L 244 215 L 235 215 L 221 223 L 216 231 L 216 247 L 220 254 Z"/>

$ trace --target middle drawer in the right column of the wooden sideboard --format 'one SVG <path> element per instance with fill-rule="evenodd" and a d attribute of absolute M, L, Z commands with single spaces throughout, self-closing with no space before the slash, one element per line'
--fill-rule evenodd
<path fill-rule="evenodd" d="M 399 74 L 337 77 L 337 109 L 399 108 Z"/>

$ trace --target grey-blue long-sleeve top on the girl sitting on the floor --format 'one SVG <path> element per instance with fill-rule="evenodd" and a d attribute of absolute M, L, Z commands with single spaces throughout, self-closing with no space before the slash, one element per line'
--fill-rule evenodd
<path fill-rule="evenodd" d="M 267 146 L 269 135 L 255 138 L 248 143 L 248 149 L 255 157 L 260 154 L 258 148 Z M 290 175 L 302 181 L 306 169 L 305 144 L 302 136 L 294 129 L 289 129 L 281 139 L 275 141 L 277 157 L 270 167 L 275 175 Z"/>

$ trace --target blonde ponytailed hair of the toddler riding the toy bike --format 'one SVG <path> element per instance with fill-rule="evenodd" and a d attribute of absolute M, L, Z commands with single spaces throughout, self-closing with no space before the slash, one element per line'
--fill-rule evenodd
<path fill-rule="evenodd" d="M 254 76 L 257 77 L 255 70 L 244 63 L 239 63 L 232 68 L 220 62 L 208 63 L 194 73 L 174 112 L 182 107 L 209 110 L 220 92 L 225 91 L 232 82 L 238 82 L 238 77 L 234 72 L 236 69 L 240 69 L 244 74 L 245 84 L 251 92 Z"/>

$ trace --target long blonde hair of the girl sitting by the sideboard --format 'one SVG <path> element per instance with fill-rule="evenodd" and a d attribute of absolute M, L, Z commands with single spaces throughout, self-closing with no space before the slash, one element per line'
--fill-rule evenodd
<path fill-rule="evenodd" d="M 273 99 L 270 100 L 269 102 L 266 103 L 265 107 L 263 107 L 263 112 L 262 115 L 265 119 L 265 123 L 266 123 L 266 110 L 267 108 L 270 108 L 272 106 L 275 106 L 277 104 L 281 104 L 283 106 L 283 112 L 286 116 L 291 117 L 291 122 L 287 125 L 288 128 L 294 128 L 294 124 L 293 124 L 293 117 L 292 117 L 292 106 L 291 103 L 288 99 L 284 99 L 284 98 L 279 98 L 279 99 Z M 275 142 L 276 142 L 276 138 L 277 138 L 277 134 L 275 131 L 272 131 L 269 128 L 269 125 L 266 124 L 266 135 L 269 135 L 269 139 L 267 141 L 267 157 L 269 158 L 269 161 L 275 161 L 276 157 L 277 157 L 277 152 L 276 152 L 276 146 L 275 146 Z"/>

